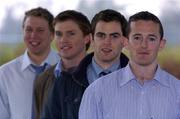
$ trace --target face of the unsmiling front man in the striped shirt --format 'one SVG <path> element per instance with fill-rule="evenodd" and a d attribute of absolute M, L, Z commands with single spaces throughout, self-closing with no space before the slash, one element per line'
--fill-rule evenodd
<path fill-rule="evenodd" d="M 160 39 L 159 24 L 138 20 L 131 22 L 130 29 L 127 49 L 131 60 L 144 66 L 155 62 L 159 50 L 165 45 L 165 40 Z"/>

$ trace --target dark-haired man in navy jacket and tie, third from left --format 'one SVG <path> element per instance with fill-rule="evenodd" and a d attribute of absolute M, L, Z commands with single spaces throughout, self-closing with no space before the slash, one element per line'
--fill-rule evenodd
<path fill-rule="evenodd" d="M 91 22 L 94 53 L 87 55 L 72 73 L 55 80 L 44 105 L 41 119 L 78 119 L 85 89 L 97 78 L 123 68 L 128 58 L 121 53 L 126 39 L 127 21 L 114 10 L 97 13 Z"/>

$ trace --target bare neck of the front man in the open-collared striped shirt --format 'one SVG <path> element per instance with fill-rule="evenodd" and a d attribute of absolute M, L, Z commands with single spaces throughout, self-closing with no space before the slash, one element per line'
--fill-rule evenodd
<path fill-rule="evenodd" d="M 136 76 L 136 78 L 143 83 L 144 80 L 151 80 L 154 77 L 154 74 L 157 69 L 157 62 L 153 62 L 152 64 L 149 65 L 139 65 L 136 64 L 133 61 L 129 61 L 131 70 L 133 74 Z"/>

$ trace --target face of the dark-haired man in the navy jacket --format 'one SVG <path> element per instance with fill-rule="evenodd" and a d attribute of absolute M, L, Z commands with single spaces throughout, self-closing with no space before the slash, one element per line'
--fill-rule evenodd
<path fill-rule="evenodd" d="M 99 21 L 93 37 L 92 46 L 97 62 L 112 63 L 119 59 L 125 39 L 120 23 Z"/>

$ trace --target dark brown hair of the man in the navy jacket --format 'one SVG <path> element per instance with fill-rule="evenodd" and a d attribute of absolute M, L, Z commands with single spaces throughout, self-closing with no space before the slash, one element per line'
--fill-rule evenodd
<path fill-rule="evenodd" d="M 96 25 L 99 21 L 105 21 L 105 22 L 116 21 L 116 22 L 119 22 L 121 24 L 121 30 L 122 30 L 123 36 L 126 36 L 127 20 L 121 13 L 119 13 L 115 10 L 112 10 L 112 9 L 102 10 L 99 13 L 97 13 L 91 21 L 91 27 L 92 27 L 92 34 L 93 35 L 95 33 Z"/>

